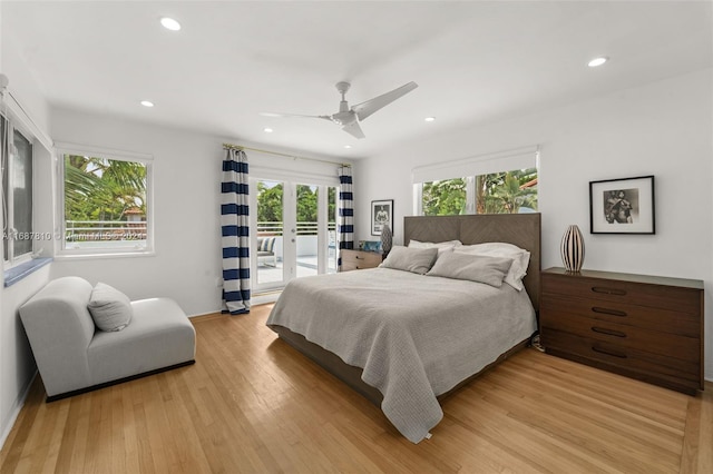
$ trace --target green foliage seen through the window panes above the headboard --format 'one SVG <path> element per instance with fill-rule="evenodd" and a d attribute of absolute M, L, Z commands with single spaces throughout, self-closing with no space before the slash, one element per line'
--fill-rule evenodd
<path fill-rule="evenodd" d="M 537 210 L 537 185 L 525 186 L 536 178 L 536 168 L 476 176 L 476 213 Z M 424 216 L 466 214 L 466 179 L 424 182 L 422 199 Z"/>

